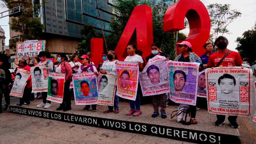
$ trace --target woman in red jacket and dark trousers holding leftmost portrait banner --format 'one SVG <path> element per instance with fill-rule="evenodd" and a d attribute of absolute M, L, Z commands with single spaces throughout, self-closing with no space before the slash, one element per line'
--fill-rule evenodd
<path fill-rule="evenodd" d="M 27 61 L 24 59 L 19 61 L 18 68 L 30 71 L 30 67 L 27 64 Z M 23 92 L 23 96 L 22 98 L 20 98 L 20 102 L 17 103 L 16 106 L 27 107 L 28 105 L 30 105 L 29 98 L 30 98 L 31 92 L 32 92 L 32 82 L 31 82 L 31 76 L 29 76 L 27 80 L 27 85 Z"/>

